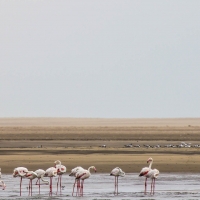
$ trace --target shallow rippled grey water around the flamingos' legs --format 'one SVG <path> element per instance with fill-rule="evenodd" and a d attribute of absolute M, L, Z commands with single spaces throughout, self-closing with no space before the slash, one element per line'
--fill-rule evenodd
<path fill-rule="evenodd" d="M 6 190 L 0 190 L 0 199 L 200 199 L 200 174 L 177 174 L 163 173 L 156 180 L 155 194 L 150 195 L 150 180 L 147 185 L 147 195 L 144 195 L 144 177 L 138 177 L 138 174 L 126 174 L 125 177 L 119 178 L 119 195 L 114 196 L 114 177 L 109 174 L 92 174 L 85 180 L 84 197 L 72 197 L 72 186 L 74 178 L 67 174 L 62 178 L 62 195 L 56 195 L 57 178 L 53 179 L 53 195 L 49 197 L 49 186 L 41 186 L 41 195 L 38 195 L 38 186 L 35 185 L 36 180 L 33 180 L 33 196 L 28 196 L 29 180 L 23 179 L 22 196 L 19 196 L 20 178 L 13 178 L 12 175 L 3 175 L 2 180 L 6 183 Z"/>

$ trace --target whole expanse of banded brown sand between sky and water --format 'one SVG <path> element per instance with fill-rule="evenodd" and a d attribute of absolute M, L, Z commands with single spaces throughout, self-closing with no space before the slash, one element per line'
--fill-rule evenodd
<path fill-rule="evenodd" d="M 161 172 L 199 172 L 200 148 L 124 148 L 129 143 L 200 144 L 199 125 L 199 118 L 1 118 L 0 167 L 3 173 L 18 166 L 47 169 L 59 159 L 68 171 L 95 165 L 102 173 L 116 166 L 139 173 L 151 156 Z M 99 147 L 102 144 L 107 148 Z"/>

